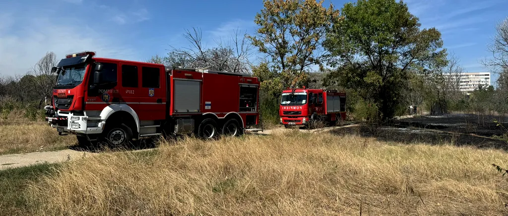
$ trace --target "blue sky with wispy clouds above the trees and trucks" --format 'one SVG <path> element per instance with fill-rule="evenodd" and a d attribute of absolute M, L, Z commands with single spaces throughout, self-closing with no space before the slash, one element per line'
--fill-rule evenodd
<path fill-rule="evenodd" d="M 331 1 L 341 8 L 348 1 Z M 444 45 L 469 72 L 487 71 L 487 44 L 504 19 L 505 0 L 406 0 L 423 27 L 436 27 Z M 327 1 L 326 5 L 329 4 Z M 236 28 L 252 33 L 261 0 L 17 0 L 0 1 L 0 74 L 24 74 L 47 51 L 58 58 L 81 50 L 98 56 L 146 60 L 170 45 L 186 46 L 185 28 L 200 27 L 205 45 Z"/>

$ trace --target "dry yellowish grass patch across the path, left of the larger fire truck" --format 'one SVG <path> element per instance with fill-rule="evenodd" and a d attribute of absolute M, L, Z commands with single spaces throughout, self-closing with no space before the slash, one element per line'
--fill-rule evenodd
<path fill-rule="evenodd" d="M 58 136 L 45 122 L 20 120 L 19 124 L 0 124 L 0 155 L 57 150 L 76 144 L 75 136 Z"/>

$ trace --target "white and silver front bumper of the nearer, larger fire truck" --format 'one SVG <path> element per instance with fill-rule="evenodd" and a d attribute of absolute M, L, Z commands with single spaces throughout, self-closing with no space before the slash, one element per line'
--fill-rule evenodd
<path fill-rule="evenodd" d="M 75 115 L 57 111 L 54 116 L 47 116 L 46 121 L 59 133 L 67 134 L 100 134 L 104 130 L 106 120 L 100 116 Z"/>

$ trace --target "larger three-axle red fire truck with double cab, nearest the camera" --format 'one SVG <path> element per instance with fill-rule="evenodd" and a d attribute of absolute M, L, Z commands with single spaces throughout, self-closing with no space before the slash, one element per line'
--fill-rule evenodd
<path fill-rule="evenodd" d="M 80 143 L 122 145 L 142 137 L 236 136 L 259 121 L 259 80 L 230 72 L 73 53 L 58 74 L 46 120 Z"/>

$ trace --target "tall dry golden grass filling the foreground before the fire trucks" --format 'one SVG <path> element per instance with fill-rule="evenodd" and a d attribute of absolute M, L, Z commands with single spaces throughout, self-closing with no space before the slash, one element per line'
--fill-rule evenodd
<path fill-rule="evenodd" d="M 144 152 L 144 153 L 143 153 Z M 501 215 L 508 154 L 285 130 L 106 153 L 32 184 L 40 215 Z"/>

